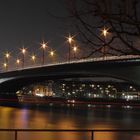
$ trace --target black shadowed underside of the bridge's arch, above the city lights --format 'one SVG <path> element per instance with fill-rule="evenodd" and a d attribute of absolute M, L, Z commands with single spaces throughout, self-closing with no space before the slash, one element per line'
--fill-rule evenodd
<path fill-rule="evenodd" d="M 72 75 L 54 75 L 54 76 L 31 76 L 31 77 L 21 77 L 21 78 L 15 78 L 15 79 L 10 79 L 7 80 L 3 83 L 0 84 L 0 92 L 1 93 L 15 93 L 16 91 L 20 90 L 23 87 L 29 86 L 31 84 L 36 84 L 36 83 L 43 83 L 48 80 L 53 80 L 53 81 L 58 81 L 58 80 L 64 80 L 64 79 L 70 79 L 70 80 L 75 80 L 75 79 L 81 79 L 81 78 L 86 78 L 86 80 L 91 80 L 96 81 L 94 79 L 106 79 L 106 78 L 112 78 L 115 79 L 117 82 L 127 82 L 130 84 L 134 84 L 131 81 L 126 81 L 124 79 L 117 79 L 116 77 L 108 77 L 106 75 L 91 75 L 91 74 L 72 74 Z M 104 82 L 104 80 L 102 81 Z"/>

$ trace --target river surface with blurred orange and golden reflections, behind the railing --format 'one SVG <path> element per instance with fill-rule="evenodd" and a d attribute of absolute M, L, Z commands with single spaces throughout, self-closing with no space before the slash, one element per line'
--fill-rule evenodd
<path fill-rule="evenodd" d="M 121 108 L 14 108 L 0 107 L 0 128 L 38 129 L 137 129 L 139 109 Z M 90 133 L 19 132 L 19 140 L 88 140 Z M 0 132 L 1 140 L 12 140 L 12 132 Z M 94 140 L 140 140 L 140 133 L 96 132 Z"/>

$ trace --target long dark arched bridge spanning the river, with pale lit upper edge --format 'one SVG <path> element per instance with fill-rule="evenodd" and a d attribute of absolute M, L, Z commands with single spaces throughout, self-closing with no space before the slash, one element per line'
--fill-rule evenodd
<path fill-rule="evenodd" d="M 46 80 L 112 77 L 140 86 L 140 56 L 110 56 L 27 67 L 0 73 L 0 92 Z"/>

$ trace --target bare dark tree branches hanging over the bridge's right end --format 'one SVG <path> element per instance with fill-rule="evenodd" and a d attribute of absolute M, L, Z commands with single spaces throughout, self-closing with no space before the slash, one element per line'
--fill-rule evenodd
<path fill-rule="evenodd" d="M 140 54 L 139 0 L 66 0 L 70 19 L 90 53 Z M 108 32 L 102 34 L 103 29 Z"/>

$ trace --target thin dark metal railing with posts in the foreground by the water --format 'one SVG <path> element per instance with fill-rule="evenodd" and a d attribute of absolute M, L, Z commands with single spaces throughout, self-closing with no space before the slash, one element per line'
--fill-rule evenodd
<path fill-rule="evenodd" d="M 72 134 L 73 132 L 75 133 L 88 133 L 90 134 L 90 137 L 88 138 L 89 140 L 94 140 L 94 134 L 95 133 L 111 133 L 111 132 L 116 132 L 116 133 L 138 133 L 140 136 L 140 129 L 0 129 L 0 132 L 14 132 L 14 140 L 20 140 L 18 138 L 18 134 L 20 132 L 36 132 L 36 133 L 41 133 L 41 132 L 63 132 L 66 133 L 68 132 L 69 135 Z M 139 137 L 140 138 L 140 137 Z M 88 140 L 87 139 L 87 140 Z M 31 139 L 30 139 L 31 140 Z M 55 139 L 57 140 L 57 139 Z"/>

